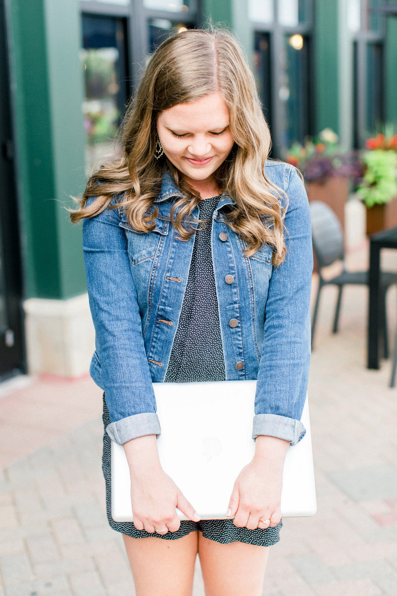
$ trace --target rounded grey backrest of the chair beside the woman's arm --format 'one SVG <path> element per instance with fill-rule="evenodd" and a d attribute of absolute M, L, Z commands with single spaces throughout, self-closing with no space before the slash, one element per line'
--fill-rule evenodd
<path fill-rule="evenodd" d="M 343 260 L 343 232 L 339 219 L 326 203 L 311 201 L 309 205 L 311 237 L 319 268 Z"/>

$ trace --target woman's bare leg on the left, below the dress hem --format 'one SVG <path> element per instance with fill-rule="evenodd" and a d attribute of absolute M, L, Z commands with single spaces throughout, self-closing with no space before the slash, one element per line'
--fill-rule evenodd
<path fill-rule="evenodd" d="M 123 535 L 137 596 L 191 596 L 198 532 L 177 540 Z"/>

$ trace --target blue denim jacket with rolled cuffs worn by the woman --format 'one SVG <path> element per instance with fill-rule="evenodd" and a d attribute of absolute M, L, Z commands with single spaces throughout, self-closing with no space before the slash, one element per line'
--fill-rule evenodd
<path fill-rule="evenodd" d="M 258 379 L 253 439 L 265 434 L 294 445 L 305 432 L 300 418 L 310 361 L 310 213 L 293 167 L 267 162 L 265 174 L 288 199 L 285 261 L 274 267 L 268 245 L 244 256 L 245 242 L 226 224 L 225 207 L 234 204 L 226 194 L 213 215 L 211 250 L 226 379 Z M 96 332 L 90 374 L 105 391 L 107 433 L 119 445 L 160 434 L 152 381 L 164 381 L 195 238 L 183 240 L 170 221 L 173 199 L 180 196 L 166 170 L 153 231 L 135 231 L 123 207 L 83 222 Z M 198 211 L 195 207 L 190 215 L 193 228 Z M 226 275 L 233 283 L 226 283 Z M 231 319 L 237 325 L 230 325 Z"/>

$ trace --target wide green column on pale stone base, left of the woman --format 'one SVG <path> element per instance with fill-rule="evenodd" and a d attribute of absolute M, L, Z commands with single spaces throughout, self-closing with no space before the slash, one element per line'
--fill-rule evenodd
<path fill-rule="evenodd" d="M 77 0 L 12 0 L 11 60 L 26 297 L 86 291 L 81 229 L 64 206 L 84 186 Z"/>

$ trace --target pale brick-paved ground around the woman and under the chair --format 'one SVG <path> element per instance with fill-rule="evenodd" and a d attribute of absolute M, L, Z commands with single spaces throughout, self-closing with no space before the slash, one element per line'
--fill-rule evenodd
<path fill-rule="evenodd" d="M 364 262 L 364 245 L 350 257 Z M 310 375 L 318 513 L 285 520 L 264 596 L 397 595 L 397 389 L 389 362 L 365 368 L 367 291 L 346 288 L 332 335 L 335 296 L 324 290 Z M 392 336 L 396 305 L 393 288 Z M 135 594 L 105 519 L 100 408 L 89 378 L 0 387 L 0 596 Z"/>

